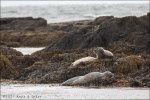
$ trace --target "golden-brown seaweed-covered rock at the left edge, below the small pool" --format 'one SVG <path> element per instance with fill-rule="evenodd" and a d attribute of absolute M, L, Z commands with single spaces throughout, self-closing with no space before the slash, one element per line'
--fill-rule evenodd
<path fill-rule="evenodd" d="M 0 72 L 1 78 L 11 78 L 13 75 L 17 75 L 18 71 L 13 64 L 0 53 Z"/>

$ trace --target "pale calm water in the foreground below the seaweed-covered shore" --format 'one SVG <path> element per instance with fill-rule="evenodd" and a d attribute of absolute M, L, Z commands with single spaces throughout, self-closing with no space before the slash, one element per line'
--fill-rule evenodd
<path fill-rule="evenodd" d="M 2 100 L 28 99 L 141 99 L 149 100 L 149 88 L 85 88 L 57 84 L 1 83 Z"/>

